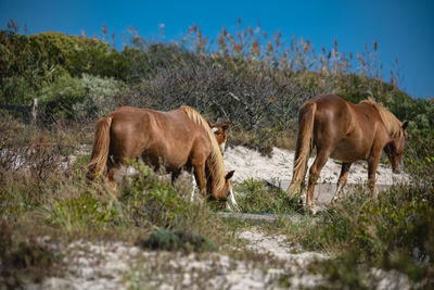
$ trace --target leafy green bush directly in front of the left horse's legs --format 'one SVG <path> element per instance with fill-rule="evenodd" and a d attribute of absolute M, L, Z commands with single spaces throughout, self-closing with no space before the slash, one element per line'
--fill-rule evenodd
<path fill-rule="evenodd" d="M 142 228 L 158 227 L 174 232 L 190 232 L 191 235 L 186 235 L 193 239 L 196 237 L 193 232 L 217 242 L 228 238 L 219 232 L 226 226 L 214 215 L 209 202 L 191 202 L 190 188 L 174 186 L 170 178 L 156 175 L 141 162 L 132 161 L 132 166 L 137 174 L 127 177 L 120 186 L 119 197 L 128 224 Z M 183 234 L 179 235 L 183 237 Z"/>

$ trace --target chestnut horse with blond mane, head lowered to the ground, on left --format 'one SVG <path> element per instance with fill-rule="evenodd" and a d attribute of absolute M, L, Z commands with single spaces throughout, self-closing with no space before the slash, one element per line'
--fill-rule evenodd
<path fill-rule="evenodd" d="M 204 196 L 207 190 L 217 200 L 230 194 L 234 202 L 229 180 L 233 172 L 226 175 L 216 137 L 192 108 L 159 112 L 122 106 L 102 117 L 97 126 L 88 178 L 101 175 L 107 165 L 105 180 L 115 189 L 115 172 L 136 157 L 142 157 L 155 169 L 163 165 L 173 178 L 182 168 L 193 168 Z"/>

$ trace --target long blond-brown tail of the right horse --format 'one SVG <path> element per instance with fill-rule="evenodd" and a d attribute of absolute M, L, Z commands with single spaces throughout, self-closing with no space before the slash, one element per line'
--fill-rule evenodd
<path fill-rule="evenodd" d="M 291 186 L 286 193 L 293 197 L 306 175 L 307 162 L 312 149 L 314 123 L 317 104 L 307 102 L 298 115 L 298 136 L 294 156 L 294 167 Z"/>

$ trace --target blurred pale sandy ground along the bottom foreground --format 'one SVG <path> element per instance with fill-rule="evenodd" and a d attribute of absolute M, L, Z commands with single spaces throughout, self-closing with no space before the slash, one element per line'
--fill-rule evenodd
<path fill-rule="evenodd" d="M 237 234 L 244 242 L 235 251 L 256 257 L 228 254 L 143 251 L 123 242 L 78 240 L 61 250 L 66 270 L 41 285 L 25 289 L 312 289 L 327 287 L 327 279 L 310 274 L 308 265 L 329 256 L 292 247 L 283 235 L 267 235 L 260 228 Z M 49 239 L 42 243 L 50 244 Z M 59 251 L 59 248 L 58 248 Z M 372 269 L 368 288 L 409 289 L 405 275 Z M 286 283 L 282 288 L 281 280 Z"/>

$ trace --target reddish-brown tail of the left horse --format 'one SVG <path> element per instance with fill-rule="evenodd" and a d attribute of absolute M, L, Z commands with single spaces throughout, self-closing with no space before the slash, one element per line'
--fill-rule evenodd
<path fill-rule="evenodd" d="M 110 149 L 110 128 L 112 117 L 102 117 L 98 121 L 95 138 L 93 141 L 92 156 L 88 165 L 87 177 L 93 179 L 95 175 L 101 175 L 105 168 Z"/>

